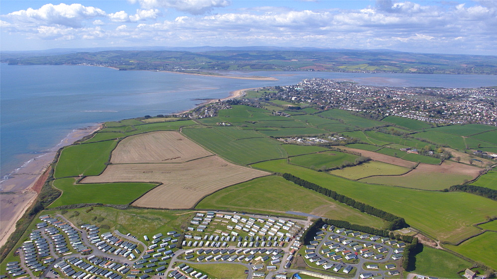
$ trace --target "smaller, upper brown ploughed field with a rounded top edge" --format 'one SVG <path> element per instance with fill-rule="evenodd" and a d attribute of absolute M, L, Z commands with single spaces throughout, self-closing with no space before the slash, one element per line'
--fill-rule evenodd
<path fill-rule="evenodd" d="M 182 163 L 213 155 L 178 132 L 152 132 L 123 139 L 111 163 Z"/>

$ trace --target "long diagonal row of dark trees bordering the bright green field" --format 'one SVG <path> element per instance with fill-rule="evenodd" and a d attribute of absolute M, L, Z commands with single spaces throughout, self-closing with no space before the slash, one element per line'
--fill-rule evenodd
<path fill-rule="evenodd" d="M 366 205 L 364 203 L 357 202 L 352 198 L 338 194 L 333 190 L 323 188 L 315 183 L 303 180 L 303 179 L 296 177 L 294 175 L 291 175 L 289 173 L 284 173 L 282 176 L 284 179 L 286 179 L 288 181 L 291 181 L 291 182 L 293 182 L 297 185 L 300 185 L 304 188 L 314 190 L 314 191 L 321 193 L 327 197 L 330 197 L 331 199 L 333 199 L 337 202 L 346 204 L 347 206 L 358 209 L 361 212 L 366 212 L 368 214 L 371 214 L 373 216 L 376 216 L 376 217 L 379 217 L 379 218 L 382 218 L 386 221 L 391 222 L 389 227 L 388 227 L 389 230 L 396 230 L 396 229 L 408 227 L 406 220 L 404 220 L 404 218 L 402 218 L 402 217 L 396 216 L 392 213 L 383 211 L 381 209 L 374 208 L 370 205 Z"/>

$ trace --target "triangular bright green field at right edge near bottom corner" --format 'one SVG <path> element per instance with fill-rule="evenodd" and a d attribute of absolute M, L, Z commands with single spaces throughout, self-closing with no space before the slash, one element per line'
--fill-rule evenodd
<path fill-rule="evenodd" d="M 446 245 L 445 247 L 497 270 L 497 232 L 487 231 L 458 246 Z"/>

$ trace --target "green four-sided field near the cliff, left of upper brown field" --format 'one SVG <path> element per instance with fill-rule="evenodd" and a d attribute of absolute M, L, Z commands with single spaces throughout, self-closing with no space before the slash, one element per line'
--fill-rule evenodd
<path fill-rule="evenodd" d="M 55 166 L 55 178 L 99 175 L 117 145 L 116 140 L 71 145 L 62 150 Z"/>

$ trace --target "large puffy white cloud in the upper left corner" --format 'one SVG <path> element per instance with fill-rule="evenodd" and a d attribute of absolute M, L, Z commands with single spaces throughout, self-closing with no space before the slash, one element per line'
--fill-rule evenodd
<path fill-rule="evenodd" d="M 99 16 L 105 16 L 105 12 L 99 8 L 86 7 L 76 3 L 71 5 L 64 3 L 58 5 L 45 4 L 39 9 L 28 8 L 6 15 L 7 18 L 15 22 L 39 25 L 58 24 L 73 28 L 81 28 L 83 20 Z"/>

